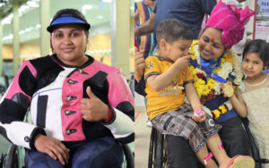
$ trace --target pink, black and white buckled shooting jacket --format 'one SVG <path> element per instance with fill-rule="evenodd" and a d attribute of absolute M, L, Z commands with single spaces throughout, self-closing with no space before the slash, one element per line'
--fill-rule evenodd
<path fill-rule="evenodd" d="M 38 133 L 61 141 L 87 141 L 105 136 L 134 138 L 134 98 L 117 68 L 91 56 L 74 67 L 48 55 L 22 63 L 0 105 L 0 133 L 13 144 L 34 149 Z M 112 107 L 109 122 L 87 122 L 80 113 L 86 88 Z M 23 122 L 30 107 L 32 123 Z M 128 141 L 128 140 L 127 140 Z"/>

